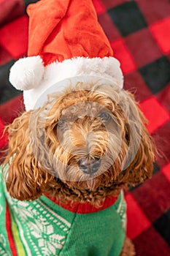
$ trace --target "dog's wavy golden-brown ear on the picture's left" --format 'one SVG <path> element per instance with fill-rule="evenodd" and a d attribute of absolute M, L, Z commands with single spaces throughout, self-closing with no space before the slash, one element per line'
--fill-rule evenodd
<path fill-rule="evenodd" d="M 39 197 L 51 178 L 37 159 L 40 149 L 34 132 L 31 134 L 30 116 L 31 111 L 23 113 L 7 129 L 9 148 L 4 167 L 9 167 L 3 168 L 4 177 L 9 195 L 18 200 L 34 200 Z M 42 157 L 45 157 L 43 153 Z"/>

